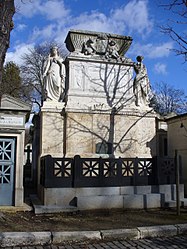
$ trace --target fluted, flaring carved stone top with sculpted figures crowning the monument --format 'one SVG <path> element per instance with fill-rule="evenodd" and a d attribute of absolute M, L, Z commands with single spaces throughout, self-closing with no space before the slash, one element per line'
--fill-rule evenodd
<path fill-rule="evenodd" d="M 110 33 L 70 30 L 65 43 L 67 49 L 72 53 L 118 59 L 127 52 L 132 38 Z"/>

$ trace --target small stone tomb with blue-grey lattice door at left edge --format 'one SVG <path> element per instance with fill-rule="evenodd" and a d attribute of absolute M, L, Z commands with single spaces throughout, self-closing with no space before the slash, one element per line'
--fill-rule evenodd
<path fill-rule="evenodd" d="M 31 106 L 8 95 L 0 100 L 0 206 L 23 206 L 25 123 Z"/>

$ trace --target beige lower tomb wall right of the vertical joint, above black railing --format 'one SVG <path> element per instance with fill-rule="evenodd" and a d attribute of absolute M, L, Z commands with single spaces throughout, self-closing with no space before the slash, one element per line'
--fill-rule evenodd
<path fill-rule="evenodd" d="M 109 133 L 113 134 L 110 140 Z M 155 115 L 152 113 L 67 113 L 66 156 L 109 156 L 98 151 L 101 143 L 113 142 L 114 154 L 122 157 L 152 157 L 156 154 Z"/>

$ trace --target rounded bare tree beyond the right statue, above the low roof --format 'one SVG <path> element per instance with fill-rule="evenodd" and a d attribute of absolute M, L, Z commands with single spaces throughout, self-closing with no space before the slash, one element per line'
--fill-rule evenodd
<path fill-rule="evenodd" d="M 152 104 L 155 111 L 161 115 L 171 112 L 180 114 L 187 111 L 187 96 L 183 90 L 160 82 L 156 84 Z"/>

